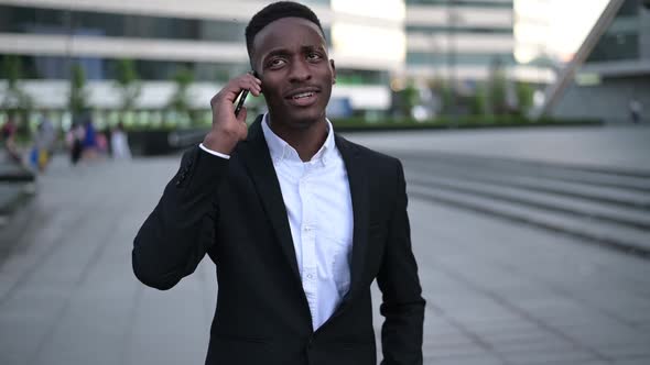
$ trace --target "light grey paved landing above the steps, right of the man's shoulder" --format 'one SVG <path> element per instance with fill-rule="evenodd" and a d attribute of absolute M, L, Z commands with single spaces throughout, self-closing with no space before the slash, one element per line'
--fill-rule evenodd
<path fill-rule="evenodd" d="M 448 152 L 650 172 L 650 125 L 351 134 L 384 151 Z"/>

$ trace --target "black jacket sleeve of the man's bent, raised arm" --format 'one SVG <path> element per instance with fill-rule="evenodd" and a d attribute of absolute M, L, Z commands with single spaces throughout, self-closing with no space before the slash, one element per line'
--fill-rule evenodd
<path fill-rule="evenodd" d="M 133 241 L 133 273 L 140 281 L 166 290 L 194 273 L 215 241 L 216 196 L 228 164 L 198 146 L 183 155 Z"/>

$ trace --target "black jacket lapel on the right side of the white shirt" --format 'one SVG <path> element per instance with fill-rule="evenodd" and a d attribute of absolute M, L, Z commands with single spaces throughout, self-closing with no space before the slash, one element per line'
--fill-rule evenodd
<path fill-rule="evenodd" d="M 340 308 L 359 287 L 368 248 L 368 180 L 366 166 L 359 150 L 348 141 L 336 135 L 336 146 L 343 156 L 353 200 L 353 257 L 350 265 L 350 287 Z"/>

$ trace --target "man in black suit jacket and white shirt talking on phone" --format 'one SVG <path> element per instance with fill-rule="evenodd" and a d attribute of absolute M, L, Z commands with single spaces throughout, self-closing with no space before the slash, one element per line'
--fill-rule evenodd
<path fill-rule="evenodd" d="M 169 289 L 207 253 L 218 297 L 206 364 L 422 364 L 424 300 L 401 164 L 334 134 L 334 62 L 306 7 L 278 2 L 246 30 L 253 75 L 212 100 L 213 128 L 140 229 L 133 269 Z M 234 101 L 263 95 L 247 129 Z"/>

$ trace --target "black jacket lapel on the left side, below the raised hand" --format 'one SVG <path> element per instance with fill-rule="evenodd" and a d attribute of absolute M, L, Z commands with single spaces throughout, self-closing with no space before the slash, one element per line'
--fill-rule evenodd
<path fill-rule="evenodd" d="M 286 217 L 286 209 L 282 199 L 282 190 L 280 189 L 275 168 L 273 167 L 269 147 L 264 140 L 261 120 L 262 115 L 258 117 L 250 125 L 248 129 L 248 139 L 241 148 L 238 148 L 238 153 L 256 185 L 262 207 L 273 226 L 273 231 L 291 266 L 293 276 L 302 287 L 295 248 L 293 247 L 293 239 L 291 237 L 291 228 L 289 226 L 289 218 Z"/>

